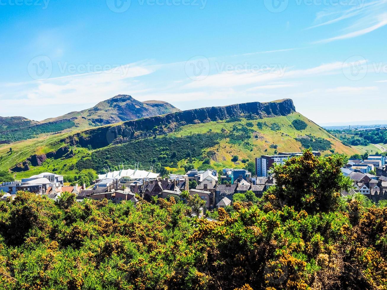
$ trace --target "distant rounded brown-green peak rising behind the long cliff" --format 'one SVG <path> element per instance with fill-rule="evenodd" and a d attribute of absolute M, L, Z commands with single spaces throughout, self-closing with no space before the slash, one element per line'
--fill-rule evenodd
<path fill-rule="evenodd" d="M 118 95 L 99 102 L 94 107 L 75 111 L 56 118 L 45 119 L 42 123 L 76 117 L 79 127 L 92 127 L 118 123 L 149 116 L 157 116 L 180 111 L 163 101 L 140 102 L 129 95 Z"/>

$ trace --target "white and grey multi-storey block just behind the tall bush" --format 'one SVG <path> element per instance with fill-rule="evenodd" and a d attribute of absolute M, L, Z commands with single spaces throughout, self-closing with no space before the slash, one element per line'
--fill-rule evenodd
<path fill-rule="evenodd" d="M 318 151 L 312 151 L 312 153 L 315 156 L 321 155 Z M 302 154 L 302 152 L 280 152 L 278 155 L 262 155 L 261 157 L 255 158 L 255 172 L 257 176 L 267 177 L 274 164 L 283 165 L 290 157 L 300 156 Z"/>

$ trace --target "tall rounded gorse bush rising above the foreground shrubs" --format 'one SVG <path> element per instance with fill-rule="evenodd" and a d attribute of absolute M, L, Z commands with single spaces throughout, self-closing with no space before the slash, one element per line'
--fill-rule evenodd
<path fill-rule="evenodd" d="M 305 150 L 302 156 L 286 160 L 283 166 L 274 166 L 276 186 L 266 191 L 264 197 L 274 196 L 272 205 L 294 206 L 308 213 L 336 210 L 340 192 L 349 191 L 352 184 L 349 177 L 342 175 L 342 165 L 340 155 L 316 157 Z"/>

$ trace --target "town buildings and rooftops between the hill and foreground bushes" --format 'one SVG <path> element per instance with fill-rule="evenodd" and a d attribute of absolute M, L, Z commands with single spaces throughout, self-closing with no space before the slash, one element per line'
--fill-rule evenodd
<path fill-rule="evenodd" d="M 312 153 L 315 156 L 321 155 L 318 151 Z M 87 187 L 86 184 L 65 186 L 62 175 L 43 172 L 19 181 L 1 183 L 0 191 L 3 195 L 0 200 L 14 199 L 17 191 L 29 191 L 52 200 L 57 200 L 62 193 L 68 192 L 74 193 L 79 202 L 85 199 L 107 199 L 112 203 L 132 201 L 136 204 L 139 201 L 136 196 L 145 200 L 151 200 L 155 196 L 174 196 L 175 199 L 185 201 L 182 192 L 188 191 L 190 195 L 197 194 L 205 201 L 205 208 L 201 212 L 203 214 L 207 210 L 232 205 L 236 193 L 245 194 L 251 191 L 256 197 L 262 197 L 270 186 L 276 184 L 276 179 L 271 174 L 273 166 L 283 165 L 289 158 L 300 155 L 302 152 L 279 152 L 277 155 L 257 157 L 256 176 L 252 176 L 246 169 L 224 168 L 221 172 L 214 169 L 191 169 L 182 175 L 169 174 L 162 178 L 159 173 L 151 170 L 140 170 L 138 165 L 135 169 L 124 169 L 122 164 L 119 171 L 100 174 Z M 342 192 L 342 196 L 361 193 L 374 202 L 387 199 L 387 167 L 384 155 L 368 155 L 364 160 L 349 159 L 341 171 L 353 181 L 353 189 Z"/>

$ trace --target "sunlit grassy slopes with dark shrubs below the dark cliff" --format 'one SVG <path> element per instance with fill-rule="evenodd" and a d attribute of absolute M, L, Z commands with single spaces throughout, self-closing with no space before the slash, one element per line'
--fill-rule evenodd
<path fill-rule="evenodd" d="M 296 130 L 292 123 L 294 120 L 305 122 L 307 127 L 304 130 Z M 9 169 L 33 154 L 46 154 L 57 150 L 66 145 L 61 140 L 74 133 L 76 132 L 3 145 L 0 147 L 0 169 Z M 321 150 L 322 154 L 338 152 L 352 155 L 365 151 L 359 147 L 343 145 L 309 119 L 299 113 L 292 113 L 272 118 L 228 119 L 185 125 L 174 133 L 158 136 L 156 139 L 147 138 L 122 145 L 110 145 L 98 150 L 70 147 L 75 153 L 74 157 L 47 159 L 41 166 L 30 166 L 31 170 L 17 173 L 16 177 L 21 178 L 43 171 L 55 171 L 64 175 L 79 174 L 88 168 L 101 172 L 106 165 L 114 169 L 118 162 L 124 162 L 126 165 L 140 162 L 140 166 L 144 169 L 149 169 L 152 164 L 159 164 L 176 173 L 183 173 L 184 165 L 190 162 L 195 167 L 202 168 L 242 168 L 260 155 L 300 151 L 303 146 L 298 140 L 308 139 L 306 136 L 312 136 L 314 141 L 324 138 L 331 143 L 328 143 L 329 146 L 325 150 Z M 12 147 L 12 152 L 9 151 L 9 147 Z M 238 156 L 238 160 L 232 161 L 235 155 Z"/>

